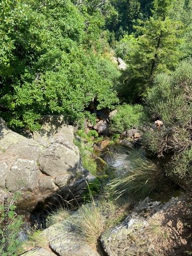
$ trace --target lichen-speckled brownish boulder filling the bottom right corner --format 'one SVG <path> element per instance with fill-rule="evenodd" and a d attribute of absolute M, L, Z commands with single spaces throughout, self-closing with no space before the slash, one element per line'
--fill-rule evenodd
<path fill-rule="evenodd" d="M 146 198 L 121 224 L 102 235 L 108 255 L 174 256 L 191 251 L 191 232 L 185 227 L 191 218 L 190 202 L 182 195 L 156 199 Z"/>

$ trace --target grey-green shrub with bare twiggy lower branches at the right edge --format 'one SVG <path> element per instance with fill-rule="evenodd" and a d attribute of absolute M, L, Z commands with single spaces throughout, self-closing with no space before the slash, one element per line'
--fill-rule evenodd
<path fill-rule="evenodd" d="M 164 123 L 160 130 L 145 130 L 143 145 L 163 157 L 165 153 L 179 154 L 189 148 L 192 113 L 192 61 L 181 62 L 171 74 L 159 74 L 146 98 L 145 122 L 148 127 L 156 119 Z"/>

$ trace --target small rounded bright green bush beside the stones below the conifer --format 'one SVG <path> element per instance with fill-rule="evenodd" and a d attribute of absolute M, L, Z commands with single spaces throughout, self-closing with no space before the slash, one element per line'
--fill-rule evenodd
<path fill-rule="evenodd" d="M 118 106 L 117 114 L 111 119 L 110 131 L 112 133 L 122 133 L 139 126 L 140 116 L 143 106 L 136 104 L 123 104 Z"/>

